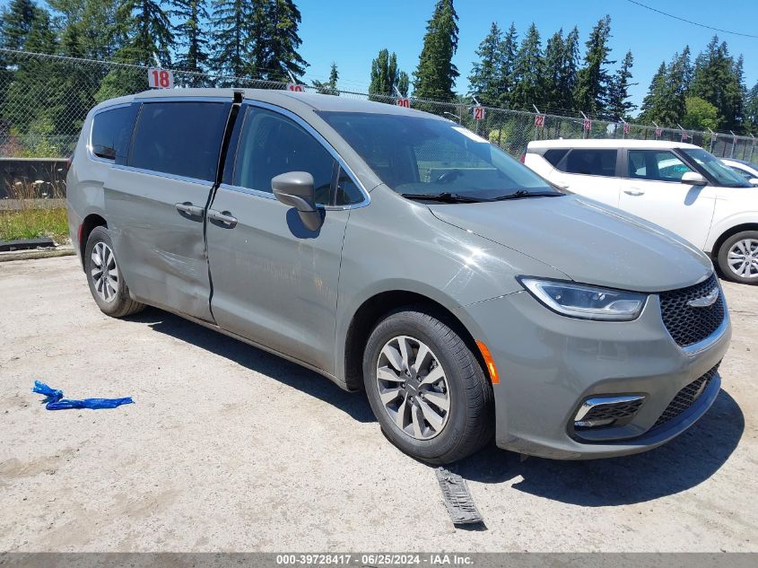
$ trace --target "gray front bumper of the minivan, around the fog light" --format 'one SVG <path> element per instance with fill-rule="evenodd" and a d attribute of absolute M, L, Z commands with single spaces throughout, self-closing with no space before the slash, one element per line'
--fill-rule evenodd
<path fill-rule="evenodd" d="M 692 406 L 654 427 L 676 394 L 727 352 L 725 311 L 725 325 L 690 352 L 669 335 L 657 295 L 628 322 L 567 318 L 527 292 L 462 307 L 457 316 L 497 365 L 497 445 L 545 458 L 591 459 L 650 450 L 705 414 L 719 393 L 718 374 Z M 574 432 L 574 416 L 587 398 L 640 394 L 644 403 L 623 427 Z"/>

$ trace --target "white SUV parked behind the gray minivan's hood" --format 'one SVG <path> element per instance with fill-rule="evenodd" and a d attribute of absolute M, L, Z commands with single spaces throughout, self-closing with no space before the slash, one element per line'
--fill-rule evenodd
<path fill-rule="evenodd" d="M 729 280 L 758 284 L 758 189 L 699 146 L 540 140 L 524 163 L 559 188 L 677 233 Z"/>

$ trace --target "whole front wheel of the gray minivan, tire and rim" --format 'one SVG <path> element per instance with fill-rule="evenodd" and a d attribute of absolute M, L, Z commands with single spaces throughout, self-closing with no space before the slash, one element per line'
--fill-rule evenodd
<path fill-rule="evenodd" d="M 373 329 L 363 381 L 381 429 L 431 464 L 466 458 L 492 438 L 492 386 L 466 341 L 444 318 L 414 307 Z"/>

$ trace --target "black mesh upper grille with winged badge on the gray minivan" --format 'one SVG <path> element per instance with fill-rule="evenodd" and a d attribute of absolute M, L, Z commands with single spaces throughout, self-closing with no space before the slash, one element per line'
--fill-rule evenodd
<path fill-rule="evenodd" d="M 724 301 L 719 299 L 710 306 L 693 308 L 689 301 L 703 298 L 719 286 L 716 275 L 700 284 L 660 293 L 660 310 L 668 333 L 677 345 L 686 347 L 710 336 L 724 320 Z"/>

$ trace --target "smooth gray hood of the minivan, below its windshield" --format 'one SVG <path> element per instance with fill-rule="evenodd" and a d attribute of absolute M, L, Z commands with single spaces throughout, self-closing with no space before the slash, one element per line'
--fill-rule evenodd
<path fill-rule="evenodd" d="M 662 292 L 699 282 L 710 258 L 674 233 L 579 196 L 429 205 L 440 221 L 540 260 L 584 284 Z"/>

